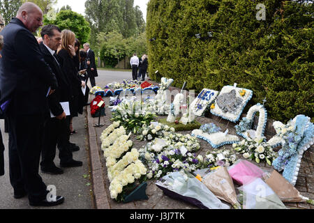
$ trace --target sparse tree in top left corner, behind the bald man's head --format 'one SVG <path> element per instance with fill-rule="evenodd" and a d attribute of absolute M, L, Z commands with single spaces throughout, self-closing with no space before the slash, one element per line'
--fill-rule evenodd
<path fill-rule="evenodd" d="M 20 6 L 22 6 L 22 0 L 0 0 L 0 13 L 6 24 L 16 16 Z"/>

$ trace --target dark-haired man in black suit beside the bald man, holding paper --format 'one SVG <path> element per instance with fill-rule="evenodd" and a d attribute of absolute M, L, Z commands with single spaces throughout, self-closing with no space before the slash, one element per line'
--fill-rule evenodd
<path fill-rule="evenodd" d="M 39 45 L 40 50 L 43 52 L 45 62 L 50 66 L 54 75 L 56 75 L 59 85 L 56 91 L 48 96 L 50 112 L 55 118 L 51 118 L 50 114 L 47 114 L 40 169 L 45 174 L 63 174 L 63 170 L 54 164 L 57 143 L 61 167 L 82 166 L 82 162 L 73 160 L 68 141 L 68 135 L 70 135 L 68 128 L 70 117 L 66 116 L 60 104 L 60 102 L 70 102 L 72 95 L 71 86 L 68 77 L 61 70 L 62 61 L 55 52 L 61 45 L 61 30 L 57 26 L 47 25 L 43 26 L 40 34 L 43 38 L 43 42 Z"/>

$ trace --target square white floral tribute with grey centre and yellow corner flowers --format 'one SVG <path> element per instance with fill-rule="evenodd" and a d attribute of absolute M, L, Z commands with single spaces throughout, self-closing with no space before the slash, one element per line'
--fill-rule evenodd
<path fill-rule="evenodd" d="M 211 114 L 236 123 L 252 95 L 253 91 L 238 88 L 237 84 L 224 86 L 216 98 L 216 102 L 211 105 Z"/>

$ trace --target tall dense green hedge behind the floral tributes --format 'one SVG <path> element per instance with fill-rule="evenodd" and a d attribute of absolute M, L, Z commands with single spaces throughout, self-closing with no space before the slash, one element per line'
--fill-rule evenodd
<path fill-rule="evenodd" d="M 266 6 L 266 20 L 257 20 L 257 3 Z M 171 77 L 181 87 L 186 80 L 197 92 L 237 83 L 254 92 L 244 112 L 266 97 L 270 118 L 314 120 L 313 3 L 150 0 L 147 42 L 156 81 Z"/>

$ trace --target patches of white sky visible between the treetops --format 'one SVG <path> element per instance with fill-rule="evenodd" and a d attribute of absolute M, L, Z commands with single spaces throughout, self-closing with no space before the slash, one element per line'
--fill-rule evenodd
<path fill-rule="evenodd" d="M 85 15 L 85 1 L 86 0 L 58 0 L 57 5 L 55 8 L 61 8 L 62 6 L 69 5 L 71 6 L 72 10 Z M 134 0 L 134 6 L 140 6 L 144 20 L 146 21 L 146 14 L 147 14 L 147 3 L 149 0 Z"/>

